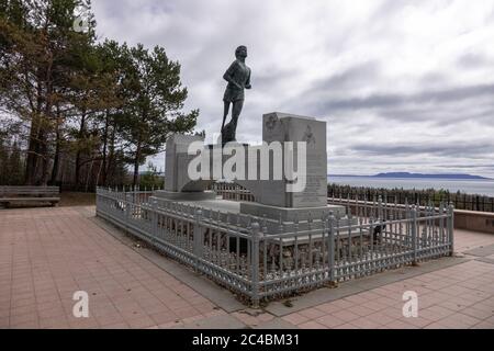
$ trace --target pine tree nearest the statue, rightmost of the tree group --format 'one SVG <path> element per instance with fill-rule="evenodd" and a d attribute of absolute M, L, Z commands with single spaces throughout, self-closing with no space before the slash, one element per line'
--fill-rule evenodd
<path fill-rule="evenodd" d="M 125 58 L 130 63 L 125 82 L 128 105 L 122 124 L 136 185 L 139 166 L 160 151 L 170 133 L 191 132 L 199 111 L 181 112 L 187 89 L 181 86 L 180 64 L 169 60 L 164 48 L 156 46 L 149 53 L 139 44 L 127 50 Z"/>

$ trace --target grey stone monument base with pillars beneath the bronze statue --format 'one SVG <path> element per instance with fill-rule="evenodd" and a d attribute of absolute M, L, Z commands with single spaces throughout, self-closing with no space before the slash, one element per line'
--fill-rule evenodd
<path fill-rule="evenodd" d="M 332 212 L 339 217 L 346 215 L 344 206 L 327 205 L 326 122 L 279 112 L 269 113 L 262 118 L 262 140 L 266 143 L 265 146 L 270 147 L 269 151 L 263 150 L 265 157 L 269 154 L 267 157 L 269 161 L 262 166 L 259 148 L 236 143 L 229 145 L 236 150 L 236 156 L 240 151 L 246 156 L 243 165 L 245 167 L 238 174 L 242 179 L 229 181 L 250 191 L 256 200 L 254 203 L 242 203 L 239 206 L 242 214 L 283 222 L 321 219 Z M 217 145 L 204 146 L 209 156 L 203 161 L 209 163 L 209 172 L 200 180 L 191 180 L 188 168 L 195 156 L 188 155 L 188 150 L 194 141 L 204 141 L 204 137 L 173 135 L 168 139 L 165 191 L 157 192 L 157 197 L 173 201 L 215 199 L 215 194 L 205 192 L 205 189 L 222 178 L 223 166 L 227 168 L 226 166 L 231 165 L 226 162 L 231 162 L 231 155 L 234 154 L 223 149 L 228 156 L 222 155 L 222 148 Z M 289 145 L 293 146 L 293 157 L 289 157 L 290 152 L 287 150 Z M 276 147 L 278 148 L 274 151 Z M 306 154 L 301 152 L 304 149 Z M 220 152 L 220 158 L 214 157 L 216 152 Z M 306 172 L 301 174 L 299 174 L 301 165 L 297 165 L 299 154 L 305 157 L 300 161 L 305 163 Z M 254 170 L 249 167 L 254 168 L 254 165 L 257 165 L 257 174 L 252 179 Z M 260 177 L 262 167 L 265 172 L 269 172 L 268 179 Z M 296 174 L 296 179 L 291 170 Z M 294 183 L 302 183 L 305 186 L 290 190 L 290 185 Z"/>

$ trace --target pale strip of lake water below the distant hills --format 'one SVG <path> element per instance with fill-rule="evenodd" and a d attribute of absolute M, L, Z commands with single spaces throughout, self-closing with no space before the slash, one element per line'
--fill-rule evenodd
<path fill-rule="evenodd" d="M 458 180 L 458 179 L 422 179 L 422 178 L 371 178 L 371 177 L 328 177 L 329 183 L 405 190 L 445 189 L 450 192 L 460 191 L 467 194 L 494 196 L 494 180 Z"/>

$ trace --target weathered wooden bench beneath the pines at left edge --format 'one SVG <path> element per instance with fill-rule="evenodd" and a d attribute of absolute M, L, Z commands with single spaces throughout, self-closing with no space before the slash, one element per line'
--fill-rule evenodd
<path fill-rule="evenodd" d="M 47 203 L 56 206 L 60 201 L 58 186 L 0 186 L 0 206 L 10 204 Z"/>

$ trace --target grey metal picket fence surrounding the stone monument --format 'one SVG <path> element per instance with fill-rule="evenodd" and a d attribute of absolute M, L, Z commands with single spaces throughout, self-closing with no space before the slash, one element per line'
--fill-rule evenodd
<path fill-rule="evenodd" d="M 97 215 L 254 305 L 453 250 L 452 206 L 369 204 L 367 214 L 284 223 L 98 189 Z"/>

